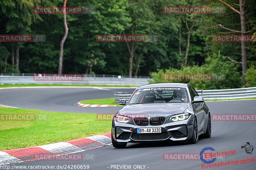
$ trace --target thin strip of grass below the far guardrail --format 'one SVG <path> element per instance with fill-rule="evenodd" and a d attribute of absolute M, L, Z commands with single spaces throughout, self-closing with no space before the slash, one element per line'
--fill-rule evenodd
<path fill-rule="evenodd" d="M 81 86 L 81 87 L 134 87 L 134 86 L 110 86 L 110 85 L 64 85 L 64 84 L 3 84 L 0 88 L 4 87 L 37 87 L 37 86 Z"/>

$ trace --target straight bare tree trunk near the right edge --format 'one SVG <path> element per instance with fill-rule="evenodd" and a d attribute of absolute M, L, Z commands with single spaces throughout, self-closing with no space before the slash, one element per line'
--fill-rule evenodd
<path fill-rule="evenodd" d="M 241 36 L 243 36 L 246 32 L 243 0 L 239 0 L 239 6 L 240 6 L 240 20 L 241 20 Z M 241 42 L 241 50 L 242 50 L 242 72 L 244 74 L 247 71 L 246 42 Z"/>

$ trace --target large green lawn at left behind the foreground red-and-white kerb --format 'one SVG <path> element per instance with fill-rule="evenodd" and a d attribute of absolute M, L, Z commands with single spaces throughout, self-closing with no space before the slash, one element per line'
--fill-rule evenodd
<path fill-rule="evenodd" d="M 48 120 L 45 121 L 0 121 L 0 150 L 46 145 L 111 131 L 112 122 L 98 121 L 96 114 L 4 107 L 0 107 L 0 113 L 48 115 Z"/>

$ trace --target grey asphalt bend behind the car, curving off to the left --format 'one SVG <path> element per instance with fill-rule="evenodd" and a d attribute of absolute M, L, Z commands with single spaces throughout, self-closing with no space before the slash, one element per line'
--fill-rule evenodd
<path fill-rule="evenodd" d="M 114 98 L 117 92 L 132 93 L 134 89 L 93 88 L 24 88 L 0 89 L 0 104 L 25 109 L 68 113 L 116 113 L 122 106 L 91 108 L 78 107 L 81 100 Z"/>

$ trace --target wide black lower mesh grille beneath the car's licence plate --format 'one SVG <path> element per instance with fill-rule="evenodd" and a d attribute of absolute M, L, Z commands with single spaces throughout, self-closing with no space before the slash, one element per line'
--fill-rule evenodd
<path fill-rule="evenodd" d="M 162 133 L 132 133 L 133 140 L 164 140 L 169 137 L 167 132 Z"/>

